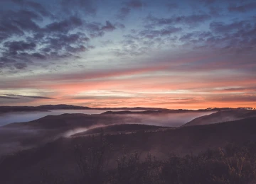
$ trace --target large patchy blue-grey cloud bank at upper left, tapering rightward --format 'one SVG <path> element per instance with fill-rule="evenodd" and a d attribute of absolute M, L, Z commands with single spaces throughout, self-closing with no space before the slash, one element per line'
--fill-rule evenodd
<path fill-rule="evenodd" d="M 65 5 L 70 3 L 63 1 Z M 72 3 L 83 7 L 92 1 L 79 0 Z M 61 18 L 53 18 L 52 14 L 57 11 L 49 13 L 43 4 L 34 1 L 23 1 L 21 5 L 21 9 L 0 13 L 0 69 L 15 72 L 29 66 L 40 66 L 43 64 L 40 61 L 77 59 L 80 53 L 94 48 L 89 44 L 89 37 L 100 37 L 106 32 L 124 28 L 123 24 L 115 25 L 110 21 L 105 21 L 105 25 L 90 23 L 77 14 L 67 13 Z M 28 8 L 23 9 L 23 6 Z M 46 62 L 44 66 L 48 65 Z"/>

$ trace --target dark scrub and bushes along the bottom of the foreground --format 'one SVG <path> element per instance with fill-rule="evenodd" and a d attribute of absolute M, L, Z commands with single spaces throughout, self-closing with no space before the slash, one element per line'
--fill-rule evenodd
<path fill-rule="evenodd" d="M 256 182 L 256 143 L 227 144 L 224 148 L 208 149 L 198 155 L 157 159 L 150 153 L 141 159 L 139 151 L 117 158 L 114 168 L 109 167 L 107 153 L 112 149 L 104 137 L 95 146 L 75 145 L 75 160 L 80 178 L 56 178 L 44 173 L 44 183 L 90 184 L 244 184 Z M 95 142 L 96 143 L 96 142 Z M 43 183 L 43 182 L 41 182 Z"/>

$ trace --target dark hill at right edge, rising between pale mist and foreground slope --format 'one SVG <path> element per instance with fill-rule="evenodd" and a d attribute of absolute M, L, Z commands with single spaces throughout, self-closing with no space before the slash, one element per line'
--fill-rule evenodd
<path fill-rule="evenodd" d="M 194 125 L 209 125 L 218 122 L 241 120 L 247 117 L 256 117 L 256 110 L 223 110 L 210 115 L 197 117 L 187 122 L 183 127 Z"/>

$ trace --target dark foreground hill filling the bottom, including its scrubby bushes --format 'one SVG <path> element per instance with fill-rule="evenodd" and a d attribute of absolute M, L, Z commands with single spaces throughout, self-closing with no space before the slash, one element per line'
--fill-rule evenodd
<path fill-rule="evenodd" d="M 0 181 L 251 183 L 254 142 L 256 117 L 174 130 L 61 138 L 2 157 Z"/>

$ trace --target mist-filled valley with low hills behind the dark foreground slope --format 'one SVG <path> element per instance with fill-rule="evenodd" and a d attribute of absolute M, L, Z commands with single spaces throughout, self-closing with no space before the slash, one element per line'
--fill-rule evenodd
<path fill-rule="evenodd" d="M 209 113 L 209 112 L 207 112 Z M 146 124 L 178 127 L 193 117 L 207 113 L 114 113 L 48 115 L 31 122 L 0 127 L 0 155 L 51 142 L 90 128 L 116 124 Z"/>

